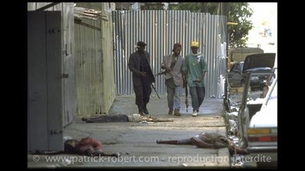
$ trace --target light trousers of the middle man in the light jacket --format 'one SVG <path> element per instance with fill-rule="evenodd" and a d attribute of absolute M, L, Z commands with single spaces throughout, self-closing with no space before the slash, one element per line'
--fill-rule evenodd
<path fill-rule="evenodd" d="M 180 110 L 181 91 L 181 86 L 176 86 L 174 89 L 167 87 L 167 106 L 169 108 Z"/>

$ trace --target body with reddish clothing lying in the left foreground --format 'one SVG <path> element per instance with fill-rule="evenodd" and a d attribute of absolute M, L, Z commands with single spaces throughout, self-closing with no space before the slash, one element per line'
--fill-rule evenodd
<path fill-rule="evenodd" d="M 64 151 L 36 151 L 35 154 L 77 154 L 81 156 L 114 156 L 119 153 L 104 153 L 102 143 L 97 139 L 86 137 L 80 141 L 68 139 L 64 142 Z"/>

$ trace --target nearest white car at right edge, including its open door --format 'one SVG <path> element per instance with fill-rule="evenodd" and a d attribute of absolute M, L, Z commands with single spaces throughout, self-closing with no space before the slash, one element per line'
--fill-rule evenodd
<path fill-rule="evenodd" d="M 258 166 L 277 165 L 277 70 L 273 72 L 275 77 L 270 79 L 272 84 L 266 96 L 245 101 L 246 91 L 238 115 L 240 145 L 249 151 L 252 159 L 256 158 Z M 245 88 L 249 87 L 249 80 L 246 81 Z"/>

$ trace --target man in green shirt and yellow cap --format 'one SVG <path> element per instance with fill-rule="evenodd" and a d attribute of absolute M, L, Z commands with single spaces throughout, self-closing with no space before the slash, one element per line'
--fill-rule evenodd
<path fill-rule="evenodd" d="M 191 54 L 184 58 L 184 65 L 182 71 L 186 75 L 187 84 L 189 85 L 189 91 L 191 94 L 191 101 L 193 107 L 193 115 L 197 116 L 199 108 L 203 103 L 205 96 L 205 85 L 203 84 L 203 78 L 205 72 L 208 71 L 205 57 L 198 53 L 199 42 L 191 42 Z"/>

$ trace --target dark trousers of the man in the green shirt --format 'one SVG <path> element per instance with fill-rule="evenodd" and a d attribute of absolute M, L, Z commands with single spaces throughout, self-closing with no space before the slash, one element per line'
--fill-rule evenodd
<path fill-rule="evenodd" d="M 193 110 L 199 110 L 205 97 L 205 87 L 189 87 Z"/>

